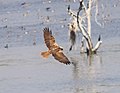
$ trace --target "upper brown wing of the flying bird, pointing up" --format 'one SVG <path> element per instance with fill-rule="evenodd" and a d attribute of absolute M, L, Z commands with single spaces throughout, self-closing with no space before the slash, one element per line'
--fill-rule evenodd
<path fill-rule="evenodd" d="M 52 31 L 49 28 L 44 28 L 43 32 L 45 44 L 50 49 L 55 43 L 55 38 L 52 36 Z"/>

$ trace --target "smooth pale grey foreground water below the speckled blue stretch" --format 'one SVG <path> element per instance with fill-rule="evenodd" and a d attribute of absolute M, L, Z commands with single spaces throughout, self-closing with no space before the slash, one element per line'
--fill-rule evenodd
<path fill-rule="evenodd" d="M 44 48 L 0 50 L 0 83 L 3 85 L 0 90 L 3 93 L 9 89 L 12 93 L 31 93 L 34 89 L 39 93 L 114 93 L 117 89 L 119 93 L 120 52 L 108 51 L 109 48 L 92 56 L 72 53 L 68 57 L 73 64 L 64 65 L 53 57 L 41 58 L 39 50 Z"/>

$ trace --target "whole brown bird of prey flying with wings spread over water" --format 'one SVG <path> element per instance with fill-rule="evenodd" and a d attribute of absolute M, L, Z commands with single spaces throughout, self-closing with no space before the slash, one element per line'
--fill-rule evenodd
<path fill-rule="evenodd" d="M 44 58 L 48 58 L 50 54 L 61 63 L 70 64 L 69 59 L 64 55 L 63 48 L 60 47 L 56 42 L 55 38 L 52 36 L 52 31 L 49 28 L 44 28 L 44 41 L 48 47 L 48 51 L 41 52 Z"/>

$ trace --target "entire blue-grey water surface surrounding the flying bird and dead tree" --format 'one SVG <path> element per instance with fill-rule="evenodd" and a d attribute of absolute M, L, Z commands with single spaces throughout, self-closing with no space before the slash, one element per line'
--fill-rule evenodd
<path fill-rule="evenodd" d="M 70 4 L 76 10 L 76 2 L 1 0 L 0 93 L 120 93 L 120 1 L 103 1 L 104 8 L 99 7 L 107 17 L 99 21 L 104 27 L 92 20 L 92 40 L 96 43 L 100 34 L 103 44 L 96 55 L 87 57 L 80 54 L 79 44 L 68 51 L 66 9 Z M 40 56 L 47 49 L 42 32 L 46 26 L 73 64 Z"/>

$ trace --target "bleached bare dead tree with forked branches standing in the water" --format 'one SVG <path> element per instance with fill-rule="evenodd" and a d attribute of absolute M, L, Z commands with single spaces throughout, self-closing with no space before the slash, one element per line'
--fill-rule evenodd
<path fill-rule="evenodd" d="M 70 16 L 73 17 L 73 21 L 70 23 L 72 30 L 70 29 L 70 31 L 74 31 L 74 33 L 75 33 L 77 30 L 79 30 L 79 32 L 83 35 L 83 37 L 86 40 L 86 52 L 89 55 L 96 53 L 96 51 L 98 50 L 98 48 L 100 47 L 100 45 L 102 43 L 100 35 L 99 35 L 98 42 L 96 43 L 95 47 L 93 47 L 93 43 L 91 40 L 91 6 L 92 6 L 92 2 L 93 2 L 92 0 L 89 0 L 87 7 L 86 7 L 84 4 L 84 1 L 80 0 L 77 15 L 74 12 L 72 12 L 72 10 L 70 9 L 70 6 L 68 6 L 68 13 L 70 14 Z M 96 14 L 98 13 L 97 8 L 96 8 Z M 79 15 L 80 11 L 82 11 L 82 10 L 85 11 L 84 17 L 81 17 Z M 87 30 L 86 30 L 85 24 L 84 24 L 85 18 L 87 19 L 87 23 L 88 23 Z M 70 36 L 70 37 L 74 37 L 74 36 L 75 35 Z M 73 40 L 75 42 L 75 38 Z M 81 43 L 82 43 L 82 49 L 83 49 L 84 41 L 82 41 Z M 72 48 L 72 46 L 71 46 L 71 48 Z"/>

